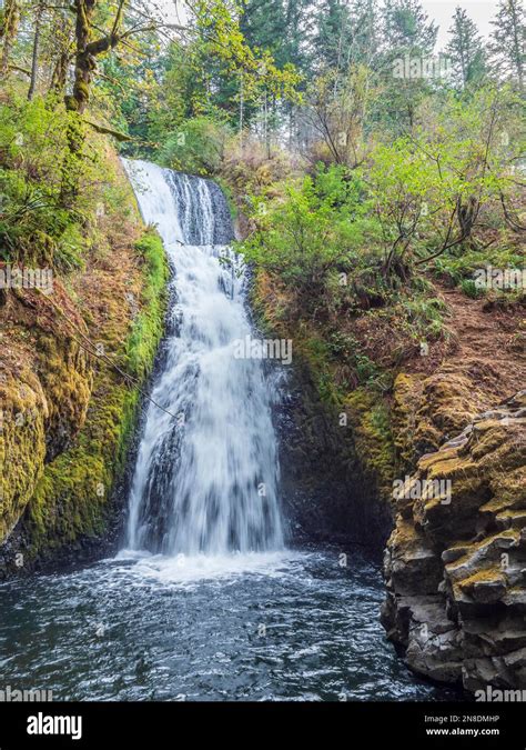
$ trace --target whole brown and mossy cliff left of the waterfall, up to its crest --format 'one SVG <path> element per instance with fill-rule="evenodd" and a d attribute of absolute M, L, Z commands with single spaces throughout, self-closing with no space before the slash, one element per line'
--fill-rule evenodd
<path fill-rule="evenodd" d="M 0 299 L 0 578 L 91 554 L 114 519 L 168 264 L 113 166 L 84 267 Z"/>

